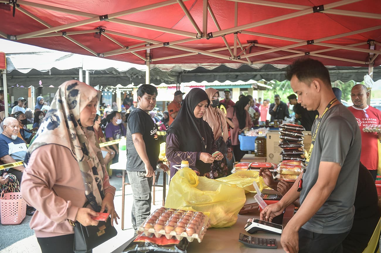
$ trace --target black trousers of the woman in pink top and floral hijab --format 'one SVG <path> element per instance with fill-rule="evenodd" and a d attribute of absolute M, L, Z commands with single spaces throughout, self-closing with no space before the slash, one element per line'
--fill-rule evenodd
<path fill-rule="evenodd" d="M 74 234 L 53 237 L 37 237 L 42 253 L 74 253 Z M 92 253 L 93 250 L 87 251 Z"/>

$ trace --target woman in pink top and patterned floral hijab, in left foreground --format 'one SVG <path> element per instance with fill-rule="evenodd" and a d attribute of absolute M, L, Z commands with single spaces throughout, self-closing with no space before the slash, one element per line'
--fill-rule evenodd
<path fill-rule="evenodd" d="M 99 91 L 76 80 L 59 86 L 51 108 L 29 146 L 21 194 L 36 208 L 30 221 L 45 252 L 73 252 L 69 221 L 96 225 L 107 212 L 113 221 L 115 188 L 110 185 L 93 126 Z M 86 202 L 89 205 L 83 207 Z"/>

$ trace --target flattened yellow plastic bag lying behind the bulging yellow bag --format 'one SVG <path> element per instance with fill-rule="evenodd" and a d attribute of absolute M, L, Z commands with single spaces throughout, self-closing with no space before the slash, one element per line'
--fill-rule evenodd
<path fill-rule="evenodd" d="M 264 188 L 268 188 L 265 185 L 263 178 L 258 176 L 258 171 L 253 170 L 239 170 L 227 177 L 221 177 L 216 179 L 229 183 L 245 190 L 245 192 L 255 193 L 253 182 L 256 182 L 259 189 L 262 191 Z"/>

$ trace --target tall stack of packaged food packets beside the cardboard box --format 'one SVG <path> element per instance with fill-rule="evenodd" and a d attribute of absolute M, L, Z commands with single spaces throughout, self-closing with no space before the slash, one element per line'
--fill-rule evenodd
<path fill-rule="evenodd" d="M 282 124 L 279 128 L 279 146 L 282 148 L 276 177 L 281 180 L 295 181 L 304 169 L 306 155 L 302 144 L 304 127 L 297 124 Z"/>

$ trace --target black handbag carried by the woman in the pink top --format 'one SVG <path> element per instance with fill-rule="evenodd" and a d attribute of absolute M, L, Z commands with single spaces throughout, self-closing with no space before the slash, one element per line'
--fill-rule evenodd
<path fill-rule="evenodd" d="M 87 205 L 88 202 L 83 207 Z M 71 221 L 70 224 L 74 226 L 75 253 L 86 253 L 117 235 L 117 230 L 111 226 L 110 217 L 107 221 L 99 221 L 97 226 L 83 226 L 78 221 Z"/>

